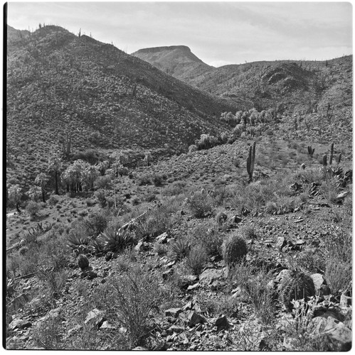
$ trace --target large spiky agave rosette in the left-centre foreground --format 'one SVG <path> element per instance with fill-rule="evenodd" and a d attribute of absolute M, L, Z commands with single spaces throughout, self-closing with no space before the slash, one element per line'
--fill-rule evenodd
<path fill-rule="evenodd" d="M 102 246 L 102 250 L 105 252 L 116 252 L 133 245 L 135 238 L 129 229 L 110 227 L 97 237 L 97 243 Z"/>

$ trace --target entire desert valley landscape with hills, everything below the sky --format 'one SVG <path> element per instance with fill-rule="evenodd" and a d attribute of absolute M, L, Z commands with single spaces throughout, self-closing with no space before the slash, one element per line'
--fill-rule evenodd
<path fill-rule="evenodd" d="M 6 349 L 351 349 L 352 56 L 8 26 L 6 74 Z"/>

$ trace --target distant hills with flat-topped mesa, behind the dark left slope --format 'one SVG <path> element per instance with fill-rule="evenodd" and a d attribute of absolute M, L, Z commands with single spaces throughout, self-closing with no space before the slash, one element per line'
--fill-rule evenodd
<path fill-rule="evenodd" d="M 312 111 L 352 106 L 352 55 L 327 61 L 277 60 L 211 67 L 190 48 L 145 48 L 132 55 L 211 94 L 231 99 L 238 109 Z"/>

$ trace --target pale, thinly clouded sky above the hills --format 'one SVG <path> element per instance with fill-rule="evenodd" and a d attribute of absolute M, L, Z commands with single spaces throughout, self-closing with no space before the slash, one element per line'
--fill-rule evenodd
<path fill-rule="evenodd" d="M 352 54 L 348 2 L 16 2 L 16 29 L 55 24 L 133 53 L 187 45 L 221 66 L 257 60 L 326 60 Z"/>

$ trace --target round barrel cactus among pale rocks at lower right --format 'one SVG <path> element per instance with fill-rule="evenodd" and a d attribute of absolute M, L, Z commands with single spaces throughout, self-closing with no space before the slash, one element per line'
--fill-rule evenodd
<path fill-rule="evenodd" d="M 310 276 L 300 271 L 292 271 L 290 275 L 282 280 L 280 285 L 280 300 L 287 310 L 292 310 L 292 300 L 315 295 L 314 283 Z"/>

